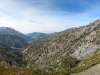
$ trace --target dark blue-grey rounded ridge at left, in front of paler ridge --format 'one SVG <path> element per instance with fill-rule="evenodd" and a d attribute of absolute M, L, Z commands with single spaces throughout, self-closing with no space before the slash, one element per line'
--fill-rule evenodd
<path fill-rule="evenodd" d="M 27 41 L 17 35 L 0 34 L 0 45 L 7 48 L 24 48 L 28 46 Z"/>

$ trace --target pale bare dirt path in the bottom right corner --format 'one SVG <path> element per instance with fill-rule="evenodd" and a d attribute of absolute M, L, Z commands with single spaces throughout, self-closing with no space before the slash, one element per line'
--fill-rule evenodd
<path fill-rule="evenodd" d="M 78 74 L 73 75 L 100 75 L 100 64 Z"/>

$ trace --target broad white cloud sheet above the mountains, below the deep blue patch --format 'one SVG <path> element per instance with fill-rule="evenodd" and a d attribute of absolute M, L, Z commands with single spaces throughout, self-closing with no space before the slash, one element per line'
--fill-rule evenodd
<path fill-rule="evenodd" d="M 45 7 L 52 5 L 49 1 L 50 0 L 47 0 L 47 2 L 44 1 Z M 35 7 L 35 5 L 25 5 L 27 3 L 22 5 L 18 3 L 20 3 L 20 1 L 16 2 L 15 0 L 2 0 L 0 2 L 0 26 L 12 27 L 23 33 L 50 33 L 62 31 L 70 27 L 86 25 L 96 20 L 98 17 L 94 16 L 94 14 L 100 11 L 98 10 L 100 6 L 98 7 L 97 5 L 93 5 L 85 12 L 76 14 L 40 9 L 41 5 L 36 5 L 38 7 Z"/>

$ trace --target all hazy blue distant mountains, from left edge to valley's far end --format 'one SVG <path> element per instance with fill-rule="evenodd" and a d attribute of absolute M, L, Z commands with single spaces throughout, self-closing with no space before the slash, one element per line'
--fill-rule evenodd
<path fill-rule="evenodd" d="M 34 32 L 25 35 L 10 27 L 0 27 L 0 45 L 3 47 L 24 48 L 28 43 L 39 41 L 45 36 L 45 33 Z"/>

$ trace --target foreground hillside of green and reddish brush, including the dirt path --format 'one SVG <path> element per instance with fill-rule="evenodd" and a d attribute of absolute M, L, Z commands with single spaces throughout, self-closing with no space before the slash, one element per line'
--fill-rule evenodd
<path fill-rule="evenodd" d="M 4 48 L 3 48 L 3 53 L 5 53 Z M 6 56 L 6 54 L 5 54 L 5 56 Z M 3 57 L 2 59 L 4 60 L 4 58 L 5 57 Z M 19 59 L 19 58 L 17 58 L 17 59 Z M 5 59 L 5 60 L 9 61 L 9 59 L 12 59 L 12 55 L 9 55 L 9 58 Z M 12 61 L 12 60 L 10 60 L 10 61 Z M 25 68 L 25 63 L 23 63 L 24 67 L 21 67 L 21 65 L 19 67 L 11 67 L 11 64 L 8 65 L 8 64 L 6 64 L 7 62 L 6 63 L 2 62 L 2 63 L 0 63 L 0 74 L 1 75 L 9 75 L 9 74 L 13 74 L 13 75 L 16 75 L 16 74 L 19 74 L 19 75 L 99 75 L 99 67 L 100 67 L 99 65 L 100 64 L 98 64 L 98 63 L 100 63 L 100 53 L 97 53 L 85 60 L 78 62 L 78 64 L 74 67 L 66 68 L 68 66 L 68 64 L 69 65 L 72 65 L 72 63 L 75 64 L 74 63 L 75 61 L 76 61 L 75 58 L 68 57 L 66 61 L 65 60 L 63 61 L 63 63 L 65 63 L 65 65 L 60 66 L 60 67 L 56 68 L 55 70 L 53 70 L 52 67 L 46 67 L 44 69 L 36 69 L 36 68 L 32 68 L 32 65 L 31 65 L 31 68 L 29 68 L 29 66 L 27 66 L 27 68 Z M 22 63 L 21 60 L 20 61 L 17 60 L 17 62 Z M 13 63 L 14 63 L 14 60 L 13 60 Z M 98 64 L 98 65 L 96 65 L 96 64 Z M 96 65 L 96 66 L 94 66 L 94 65 Z M 14 66 L 14 64 L 12 66 Z M 57 66 L 54 65 L 54 67 L 57 67 Z M 60 70 L 59 70 L 59 68 L 60 68 Z"/>

